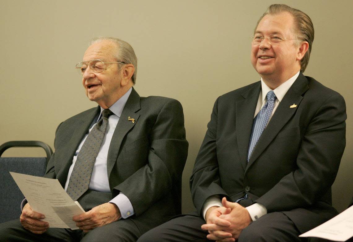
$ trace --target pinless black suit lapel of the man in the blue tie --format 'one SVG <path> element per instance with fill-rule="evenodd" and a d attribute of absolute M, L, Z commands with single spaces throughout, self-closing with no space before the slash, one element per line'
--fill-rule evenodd
<path fill-rule="evenodd" d="M 254 119 L 254 113 L 261 90 L 261 82 L 258 82 L 251 89 L 242 94 L 243 100 L 239 100 L 235 104 L 235 128 L 237 130 L 237 144 L 241 164 L 247 165 L 247 150 L 249 148 L 249 140 L 251 127 Z"/>

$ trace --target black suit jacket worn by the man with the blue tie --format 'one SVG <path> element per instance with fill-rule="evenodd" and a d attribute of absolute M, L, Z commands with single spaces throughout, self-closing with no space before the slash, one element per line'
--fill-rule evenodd
<path fill-rule="evenodd" d="M 331 185 L 345 148 L 345 101 L 300 73 L 247 163 L 260 90 L 256 82 L 216 100 L 190 179 L 192 199 L 201 213 L 209 196 L 234 202 L 248 194 L 305 232 L 337 213 Z"/>

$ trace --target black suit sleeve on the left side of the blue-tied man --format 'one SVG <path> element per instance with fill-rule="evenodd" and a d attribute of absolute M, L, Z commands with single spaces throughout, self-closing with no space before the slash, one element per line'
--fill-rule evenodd
<path fill-rule="evenodd" d="M 202 214 L 202 207 L 208 197 L 227 195 L 221 185 L 216 150 L 218 100 L 214 104 L 211 120 L 190 178 L 191 196 L 199 214 Z"/>

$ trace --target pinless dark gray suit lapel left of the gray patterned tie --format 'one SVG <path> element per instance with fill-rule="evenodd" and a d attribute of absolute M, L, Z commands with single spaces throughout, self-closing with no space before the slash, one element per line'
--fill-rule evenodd
<path fill-rule="evenodd" d="M 61 173 L 62 176 L 61 174 L 58 174 L 57 176 L 59 182 L 62 184 L 63 187 L 65 185 L 67 173 L 71 166 L 72 158 L 77 150 L 77 147 L 79 146 L 85 134 L 87 134 L 93 120 L 96 118 L 98 113 L 100 113 L 99 106 L 95 109 L 92 109 L 92 112 L 89 112 L 87 115 L 77 120 L 77 124 L 74 126 L 74 130 L 72 132 L 71 138 L 65 144 L 65 147 L 63 149 L 65 150 L 65 152 L 62 152 L 60 154 L 60 157 L 57 158 L 62 161 L 61 164 L 64 167 L 64 169 L 58 169 L 58 171 L 60 170 L 64 171 Z"/>

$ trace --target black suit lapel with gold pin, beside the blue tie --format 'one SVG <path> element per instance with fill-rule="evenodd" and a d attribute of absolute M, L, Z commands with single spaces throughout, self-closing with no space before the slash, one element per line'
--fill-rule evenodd
<path fill-rule="evenodd" d="M 250 157 L 249 163 L 246 169 L 249 169 L 251 164 L 261 155 L 261 153 L 267 148 L 267 146 L 273 141 L 277 136 L 283 126 L 288 122 L 288 120 L 297 111 L 301 100 L 303 99 L 303 94 L 308 89 L 308 81 L 304 75 L 300 72 L 298 78 L 293 83 L 292 87 L 289 88 L 286 95 L 283 97 L 282 101 L 278 105 L 275 113 L 273 114 L 270 122 L 260 136 L 253 152 Z M 291 108 L 291 105 L 297 105 Z"/>

